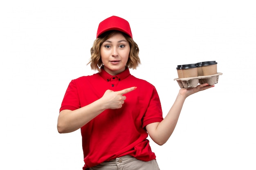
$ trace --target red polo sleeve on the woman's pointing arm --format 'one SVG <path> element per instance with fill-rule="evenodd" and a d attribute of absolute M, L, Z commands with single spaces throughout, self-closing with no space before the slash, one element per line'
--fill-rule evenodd
<path fill-rule="evenodd" d="M 77 92 L 76 82 L 72 80 L 67 87 L 66 93 L 64 95 L 63 101 L 61 103 L 61 110 L 76 110 L 80 108 L 79 95 Z"/>

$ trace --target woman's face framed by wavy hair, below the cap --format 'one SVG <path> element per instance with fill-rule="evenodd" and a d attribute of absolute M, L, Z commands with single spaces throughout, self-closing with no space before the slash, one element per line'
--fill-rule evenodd
<path fill-rule="evenodd" d="M 121 33 L 115 33 L 101 45 L 101 61 L 104 70 L 117 75 L 125 70 L 129 58 L 130 45 Z"/>

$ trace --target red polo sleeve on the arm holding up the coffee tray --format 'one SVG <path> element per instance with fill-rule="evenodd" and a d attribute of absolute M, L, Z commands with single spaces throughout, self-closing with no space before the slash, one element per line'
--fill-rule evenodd
<path fill-rule="evenodd" d="M 148 124 L 154 122 L 161 122 L 163 120 L 162 106 L 160 103 L 159 95 L 155 89 L 152 90 L 148 108 L 142 120 L 143 128 Z"/>

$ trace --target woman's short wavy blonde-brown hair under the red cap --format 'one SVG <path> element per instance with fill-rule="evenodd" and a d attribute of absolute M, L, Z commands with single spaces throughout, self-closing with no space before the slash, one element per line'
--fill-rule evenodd
<path fill-rule="evenodd" d="M 91 58 L 88 64 L 90 64 L 92 70 L 98 70 L 100 72 L 100 68 L 103 65 L 101 61 L 101 45 L 103 42 L 108 40 L 112 35 L 115 33 L 122 33 L 124 35 L 124 38 L 129 42 L 130 44 L 130 53 L 129 53 L 129 58 L 126 63 L 126 66 L 128 68 L 136 69 L 139 64 L 141 64 L 140 59 L 139 59 L 139 47 L 136 44 L 136 42 L 130 38 L 127 34 L 121 32 L 121 31 L 107 31 L 103 34 L 100 35 L 99 38 L 94 40 L 93 46 L 91 48 Z M 87 65 L 88 65 L 87 64 Z"/>

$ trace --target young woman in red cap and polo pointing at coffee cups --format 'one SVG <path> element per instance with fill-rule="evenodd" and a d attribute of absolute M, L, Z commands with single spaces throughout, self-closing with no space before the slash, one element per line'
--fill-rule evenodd
<path fill-rule="evenodd" d="M 130 24 L 112 16 L 98 27 L 88 63 L 99 73 L 73 79 L 58 116 L 58 132 L 81 128 L 83 170 L 159 170 L 148 135 L 159 145 L 171 136 L 186 97 L 212 86 L 181 88 L 165 118 L 155 87 L 132 76 L 140 64 Z"/>

